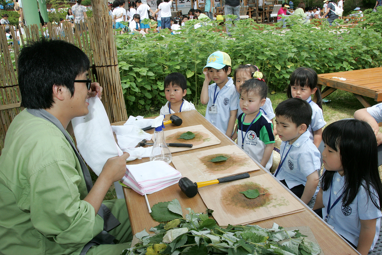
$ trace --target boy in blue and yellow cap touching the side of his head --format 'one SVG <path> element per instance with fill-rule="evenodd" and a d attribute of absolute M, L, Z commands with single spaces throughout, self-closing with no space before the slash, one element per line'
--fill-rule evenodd
<path fill-rule="evenodd" d="M 239 93 L 231 73 L 231 58 L 222 51 L 212 53 L 203 68 L 204 82 L 200 94 L 202 104 L 207 104 L 206 119 L 228 137 L 232 136 L 238 109 Z M 214 81 L 215 83 L 210 82 Z"/>

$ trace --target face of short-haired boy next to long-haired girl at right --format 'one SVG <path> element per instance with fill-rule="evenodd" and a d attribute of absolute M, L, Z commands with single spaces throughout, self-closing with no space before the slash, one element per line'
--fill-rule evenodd
<path fill-rule="evenodd" d="M 284 116 L 276 116 L 276 130 L 278 137 L 282 141 L 289 141 L 289 144 L 294 143 L 306 131 L 306 125 L 301 124 L 298 127 L 291 120 L 286 119 Z M 302 127 L 304 125 L 304 127 Z"/>

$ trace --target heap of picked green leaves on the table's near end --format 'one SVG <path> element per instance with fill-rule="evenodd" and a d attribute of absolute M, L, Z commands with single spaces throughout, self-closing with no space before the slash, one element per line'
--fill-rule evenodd
<path fill-rule="evenodd" d="M 149 236 L 146 230 L 137 233 L 135 237 L 139 242 L 123 250 L 121 255 L 317 255 L 321 252 L 319 245 L 304 238 L 298 230 L 286 231 L 275 223 L 271 229 L 257 225 L 217 226 L 208 214 L 194 213 L 190 208 L 186 210 L 189 214 L 183 217 L 176 199 L 161 203 L 159 207 L 153 206 L 155 220 L 168 222 L 152 227 L 150 231 L 155 232 L 154 236 Z M 285 239 L 289 240 L 280 244 Z"/>

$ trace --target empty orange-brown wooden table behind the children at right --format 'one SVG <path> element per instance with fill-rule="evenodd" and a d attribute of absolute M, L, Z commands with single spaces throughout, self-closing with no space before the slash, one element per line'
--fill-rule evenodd
<path fill-rule="evenodd" d="M 364 107 L 371 105 L 364 98 L 371 97 L 377 103 L 382 102 L 382 67 L 368 68 L 362 70 L 345 71 L 338 73 L 324 73 L 318 75 L 317 85 L 321 89 L 322 85 L 326 88 L 321 92 L 322 98 L 330 95 L 337 89 L 348 91 L 361 102 Z M 339 80 L 345 78 L 345 81 Z"/>

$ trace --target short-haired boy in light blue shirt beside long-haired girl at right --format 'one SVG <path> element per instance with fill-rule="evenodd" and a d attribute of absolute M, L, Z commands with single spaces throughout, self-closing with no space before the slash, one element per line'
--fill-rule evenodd
<path fill-rule="evenodd" d="M 312 107 L 299 98 L 290 98 L 275 109 L 276 130 L 282 140 L 281 161 L 275 177 L 308 204 L 316 192 L 321 168 L 320 152 L 307 131 Z"/>

